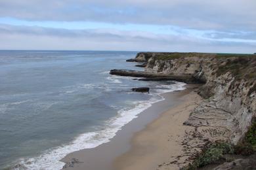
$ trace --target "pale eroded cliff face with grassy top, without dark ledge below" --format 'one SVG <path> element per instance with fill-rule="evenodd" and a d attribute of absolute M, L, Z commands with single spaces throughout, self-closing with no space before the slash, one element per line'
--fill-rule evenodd
<path fill-rule="evenodd" d="M 215 133 L 236 144 L 256 116 L 256 56 L 200 53 L 154 54 L 146 72 L 189 75 L 205 83 L 199 94 L 205 100 L 192 111 L 186 125 Z"/>

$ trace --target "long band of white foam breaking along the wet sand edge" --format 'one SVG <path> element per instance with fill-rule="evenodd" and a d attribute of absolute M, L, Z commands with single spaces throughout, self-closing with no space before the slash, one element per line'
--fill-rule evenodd
<path fill-rule="evenodd" d="M 168 92 L 184 90 L 184 83 L 177 82 L 176 84 L 168 85 L 168 87 Z M 152 97 L 149 101 L 136 102 L 136 107 L 133 109 L 119 110 L 117 116 L 106 121 L 105 129 L 81 134 L 72 143 L 47 150 L 38 157 L 22 159 L 18 164 L 18 168 L 13 169 L 62 169 L 64 163 L 60 160 L 64 156 L 77 150 L 95 148 L 102 143 L 107 143 L 116 135 L 121 127 L 131 122 L 134 118 L 137 118 L 140 112 L 148 109 L 152 103 L 162 101 L 164 98 L 159 95 L 160 93 L 163 92 L 152 94 L 155 97 Z"/>

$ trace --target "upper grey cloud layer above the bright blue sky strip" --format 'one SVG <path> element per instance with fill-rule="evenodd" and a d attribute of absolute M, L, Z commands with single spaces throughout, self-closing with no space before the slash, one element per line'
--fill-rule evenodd
<path fill-rule="evenodd" d="M 0 17 L 255 31 L 255 7 L 255 0 L 9 0 L 0 1 Z"/>

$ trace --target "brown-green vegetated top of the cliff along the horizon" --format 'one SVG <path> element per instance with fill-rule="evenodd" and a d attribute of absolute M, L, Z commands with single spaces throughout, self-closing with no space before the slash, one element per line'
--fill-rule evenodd
<path fill-rule="evenodd" d="M 199 52 L 140 52 L 137 58 L 144 56 L 146 60 L 173 60 L 182 59 L 186 63 L 201 62 L 207 59 L 208 67 L 215 70 L 217 76 L 227 72 L 232 73 L 236 79 L 256 80 L 256 55 L 255 54 L 226 54 L 226 53 L 199 53 Z M 192 59 L 192 61 L 189 58 Z M 198 59 L 196 59 L 198 58 Z M 195 60 L 195 61 L 194 61 Z M 198 60 L 198 61 L 197 61 Z"/>

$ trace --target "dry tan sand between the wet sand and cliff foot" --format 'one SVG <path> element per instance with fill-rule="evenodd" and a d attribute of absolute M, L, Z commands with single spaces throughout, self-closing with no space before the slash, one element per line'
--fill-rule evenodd
<path fill-rule="evenodd" d="M 183 102 L 180 105 L 167 110 L 146 129 L 136 133 L 131 142 L 131 150 L 114 161 L 115 169 L 179 169 L 188 163 L 186 159 L 192 153 L 186 155 L 188 150 L 184 148 L 184 141 L 189 140 L 189 134 L 195 131 L 195 127 L 184 126 L 182 123 L 202 99 L 195 92 L 181 99 Z M 189 150 L 193 149 L 198 148 Z"/>

